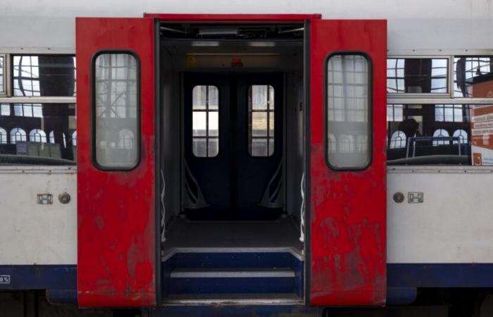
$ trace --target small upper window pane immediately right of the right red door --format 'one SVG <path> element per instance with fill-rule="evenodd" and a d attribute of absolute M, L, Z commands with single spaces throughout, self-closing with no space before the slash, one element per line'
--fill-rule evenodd
<path fill-rule="evenodd" d="M 447 58 L 387 58 L 387 92 L 448 92 Z"/>

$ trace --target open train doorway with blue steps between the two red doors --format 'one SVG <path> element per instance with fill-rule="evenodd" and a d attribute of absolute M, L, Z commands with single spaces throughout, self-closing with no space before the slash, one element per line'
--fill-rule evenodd
<path fill-rule="evenodd" d="M 163 23 L 160 39 L 164 296 L 230 294 L 200 282 L 226 261 L 280 279 L 240 293 L 301 300 L 304 25 Z"/>

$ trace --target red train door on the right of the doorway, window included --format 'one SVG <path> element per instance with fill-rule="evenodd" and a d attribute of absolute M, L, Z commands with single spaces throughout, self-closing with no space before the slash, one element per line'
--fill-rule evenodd
<path fill-rule="evenodd" d="M 385 20 L 312 20 L 313 305 L 384 305 Z"/>

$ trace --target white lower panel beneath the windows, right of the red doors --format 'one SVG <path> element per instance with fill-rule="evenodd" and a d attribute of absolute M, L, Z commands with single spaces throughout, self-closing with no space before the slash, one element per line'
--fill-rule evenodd
<path fill-rule="evenodd" d="M 484 172 L 389 173 L 387 262 L 493 263 L 493 173 Z M 409 204 L 408 192 L 424 202 Z"/>

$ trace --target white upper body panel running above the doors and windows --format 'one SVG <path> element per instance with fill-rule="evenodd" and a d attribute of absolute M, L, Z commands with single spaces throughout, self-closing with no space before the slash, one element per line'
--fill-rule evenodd
<path fill-rule="evenodd" d="M 321 13 L 388 20 L 389 49 L 491 49 L 493 0 L 4 0 L 0 47 L 75 47 L 76 16 L 151 13 Z"/>

